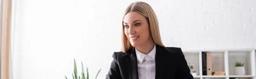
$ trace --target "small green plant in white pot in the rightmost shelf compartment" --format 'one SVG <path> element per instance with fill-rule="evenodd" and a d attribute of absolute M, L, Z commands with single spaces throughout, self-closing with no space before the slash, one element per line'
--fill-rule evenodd
<path fill-rule="evenodd" d="M 234 74 L 235 75 L 244 75 L 244 63 L 236 62 L 235 68 L 234 68 Z"/>

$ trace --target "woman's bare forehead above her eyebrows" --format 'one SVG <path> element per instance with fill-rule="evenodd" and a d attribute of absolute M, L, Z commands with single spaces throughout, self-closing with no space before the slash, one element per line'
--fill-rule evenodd
<path fill-rule="evenodd" d="M 136 11 L 128 12 L 124 17 L 124 23 L 132 23 L 134 20 L 145 21 L 145 17 Z"/>

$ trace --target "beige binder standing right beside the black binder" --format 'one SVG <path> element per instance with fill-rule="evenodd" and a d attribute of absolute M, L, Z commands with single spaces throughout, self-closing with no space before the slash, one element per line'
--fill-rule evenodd
<path fill-rule="evenodd" d="M 206 63 L 207 63 L 207 75 L 211 76 L 212 75 L 212 54 L 211 53 L 206 53 Z"/>

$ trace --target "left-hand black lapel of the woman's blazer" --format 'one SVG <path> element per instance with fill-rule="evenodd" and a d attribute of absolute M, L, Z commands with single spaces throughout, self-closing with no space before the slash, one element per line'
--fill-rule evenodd
<path fill-rule="evenodd" d="M 128 54 L 128 56 L 129 57 L 127 57 L 126 60 L 130 79 L 139 79 L 135 48 Z"/>

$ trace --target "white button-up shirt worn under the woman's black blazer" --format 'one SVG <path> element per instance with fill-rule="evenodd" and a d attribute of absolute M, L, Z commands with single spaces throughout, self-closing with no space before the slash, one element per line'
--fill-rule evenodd
<path fill-rule="evenodd" d="M 148 54 L 143 54 L 135 48 L 135 52 L 137 55 L 137 65 L 138 65 L 138 76 L 139 79 L 155 79 L 156 72 L 156 64 L 155 64 L 155 56 L 156 56 L 156 45 L 154 44 L 154 48 Z"/>

